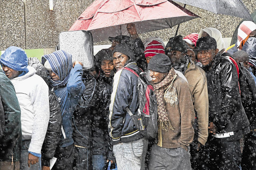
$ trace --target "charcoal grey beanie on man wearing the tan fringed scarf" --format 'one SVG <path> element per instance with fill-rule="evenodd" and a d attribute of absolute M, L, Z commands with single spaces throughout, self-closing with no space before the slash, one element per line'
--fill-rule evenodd
<path fill-rule="evenodd" d="M 171 68 L 171 61 L 169 57 L 165 54 L 155 54 L 147 64 L 147 69 L 160 72 L 167 73 Z"/>

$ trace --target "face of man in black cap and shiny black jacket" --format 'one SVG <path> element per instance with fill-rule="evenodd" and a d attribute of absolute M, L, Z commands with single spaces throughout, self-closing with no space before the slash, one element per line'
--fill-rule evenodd
<path fill-rule="evenodd" d="M 197 59 L 202 66 L 211 65 L 213 58 L 216 56 L 218 49 L 201 50 L 197 52 Z"/>

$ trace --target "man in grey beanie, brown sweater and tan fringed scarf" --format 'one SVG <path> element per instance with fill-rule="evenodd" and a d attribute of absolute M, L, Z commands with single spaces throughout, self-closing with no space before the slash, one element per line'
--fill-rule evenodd
<path fill-rule="evenodd" d="M 191 170 L 194 110 L 187 82 L 171 68 L 165 54 L 153 56 L 150 70 L 158 113 L 158 141 L 152 146 L 149 170 Z"/>

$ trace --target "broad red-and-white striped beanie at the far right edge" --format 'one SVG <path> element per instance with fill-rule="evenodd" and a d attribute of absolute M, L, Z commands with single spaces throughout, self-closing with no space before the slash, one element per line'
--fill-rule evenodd
<path fill-rule="evenodd" d="M 243 21 L 239 27 L 237 32 L 237 48 L 240 46 L 240 49 L 242 48 L 242 45 L 245 43 L 249 37 L 249 34 L 256 29 L 256 24 L 252 21 Z"/>

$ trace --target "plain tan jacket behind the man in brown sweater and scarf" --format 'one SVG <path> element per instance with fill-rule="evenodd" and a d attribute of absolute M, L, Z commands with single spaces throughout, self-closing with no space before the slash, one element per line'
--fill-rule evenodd
<path fill-rule="evenodd" d="M 198 138 L 197 141 L 204 145 L 208 138 L 208 117 L 209 117 L 209 102 L 207 79 L 205 72 L 191 61 L 186 69 L 184 76 L 189 85 L 192 94 L 194 110 L 198 123 Z"/>

